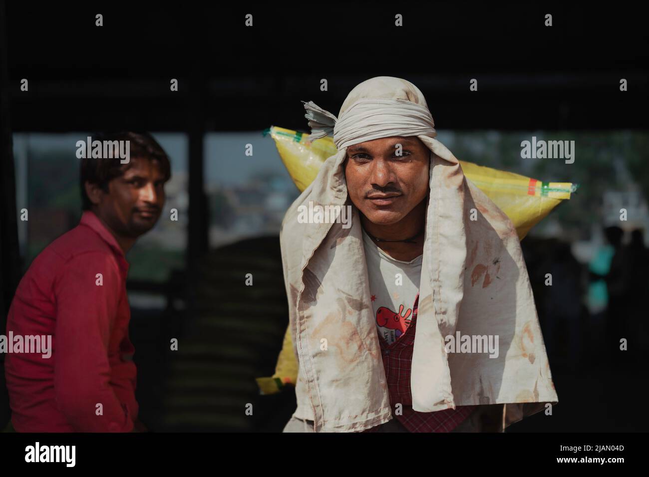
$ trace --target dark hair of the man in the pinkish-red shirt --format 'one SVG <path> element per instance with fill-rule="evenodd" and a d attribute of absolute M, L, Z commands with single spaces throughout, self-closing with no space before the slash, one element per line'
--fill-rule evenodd
<path fill-rule="evenodd" d="M 92 141 L 130 141 L 130 158 L 142 158 L 154 160 L 160 164 L 160 171 L 167 182 L 171 178 L 171 165 L 169 157 L 164 149 L 154 140 L 148 132 L 107 132 L 97 133 L 92 136 Z M 103 144 L 103 142 L 102 142 Z M 102 149 L 103 150 L 103 149 Z M 86 181 L 97 184 L 103 191 L 108 192 L 108 182 L 116 177 L 121 177 L 131 167 L 132 162 L 121 164 L 119 154 L 113 154 L 114 158 L 92 158 L 81 159 L 81 207 L 83 210 L 91 210 L 92 202 L 86 194 Z"/>

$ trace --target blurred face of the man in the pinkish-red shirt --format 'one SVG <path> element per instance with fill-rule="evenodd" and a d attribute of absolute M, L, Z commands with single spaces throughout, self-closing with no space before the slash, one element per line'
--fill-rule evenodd
<path fill-rule="evenodd" d="M 137 238 L 160 218 L 165 201 L 164 176 L 157 161 L 130 158 L 131 167 L 99 193 L 97 215 L 118 234 Z"/>

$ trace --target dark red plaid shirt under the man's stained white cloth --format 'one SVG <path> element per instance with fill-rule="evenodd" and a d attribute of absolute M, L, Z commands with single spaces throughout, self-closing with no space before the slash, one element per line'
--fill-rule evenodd
<path fill-rule="evenodd" d="M 378 336 L 381 343 L 381 355 L 386 369 L 387 388 L 390 393 L 390 404 L 402 404 L 402 415 L 395 416 L 410 432 L 450 432 L 472 413 L 476 406 L 457 406 L 455 410 L 446 409 L 436 412 L 418 412 L 412 409 L 410 392 L 410 365 L 412 362 L 413 345 L 415 343 L 415 326 L 417 322 L 417 304 L 419 293 L 415 299 L 412 320 L 406 332 L 391 345 Z M 377 330 L 378 333 L 378 330 Z M 393 409 L 394 411 L 394 409 Z M 374 426 L 363 432 L 376 432 L 379 426 Z"/>

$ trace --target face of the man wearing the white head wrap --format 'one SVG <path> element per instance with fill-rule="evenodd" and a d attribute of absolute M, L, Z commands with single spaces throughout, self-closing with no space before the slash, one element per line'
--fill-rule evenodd
<path fill-rule="evenodd" d="M 430 149 L 415 136 L 349 146 L 344 167 L 351 201 L 375 224 L 397 223 L 428 193 Z"/>

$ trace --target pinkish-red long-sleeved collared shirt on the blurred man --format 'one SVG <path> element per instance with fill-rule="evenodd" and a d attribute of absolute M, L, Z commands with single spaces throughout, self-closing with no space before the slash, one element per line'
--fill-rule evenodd
<path fill-rule="evenodd" d="M 132 430 L 138 403 L 128 359 L 135 351 L 128 271 L 116 239 L 88 211 L 34 259 L 16 290 L 6 336 L 51 335 L 52 352 L 5 355 L 18 432 Z"/>

